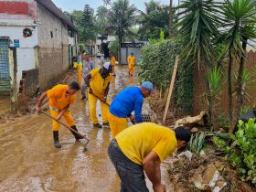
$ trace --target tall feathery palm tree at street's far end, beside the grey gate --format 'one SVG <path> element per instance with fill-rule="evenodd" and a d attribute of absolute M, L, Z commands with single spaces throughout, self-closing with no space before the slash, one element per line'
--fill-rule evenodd
<path fill-rule="evenodd" d="M 133 33 L 131 27 L 136 23 L 136 8 L 129 0 L 116 0 L 108 13 L 107 30 L 118 37 L 118 63 L 121 64 L 121 44 L 126 34 Z"/>

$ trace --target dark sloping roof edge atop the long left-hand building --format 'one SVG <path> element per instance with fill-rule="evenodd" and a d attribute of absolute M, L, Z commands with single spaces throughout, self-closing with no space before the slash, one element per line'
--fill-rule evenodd
<path fill-rule="evenodd" d="M 67 24 L 70 28 L 78 31 L 77 27 L 73 24 L 69 16 L 66 16 L 51 0 L 36 0 L 40 5 L 44 6 L 50 13 L 59 17 L 59 19 Z"/>

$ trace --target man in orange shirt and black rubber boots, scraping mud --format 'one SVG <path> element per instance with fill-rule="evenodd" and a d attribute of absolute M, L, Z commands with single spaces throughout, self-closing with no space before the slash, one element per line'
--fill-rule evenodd
<path fill-rule="evenodd" d="M 37 102 L 37 112 L 41 111 L 41 104 L 46 97 L 48 97 L 49 112 L 50 115 L 58 121 L 63 116 L 66 123 L 72 129 L 77 130 L 76 123 L 69 112 L 69 106 L 74 103 L 76 92 L 80 90 L 80 86 L 77 82 L 71 82 L 69 85 L 59 84 L 53 87 L 51 90 L 45 91 Z M 59 123 L 55 120 L 52 121 L 52 131 L 54 145 L 57 148 L 61 147 L 59 144 Z M 76 140 L 82 139 L 77 133 L 71 132 Z"/>

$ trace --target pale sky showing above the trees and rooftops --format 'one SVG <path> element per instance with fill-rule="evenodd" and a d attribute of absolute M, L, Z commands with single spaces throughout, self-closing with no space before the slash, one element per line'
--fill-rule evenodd
<path fill-rule="evenodd" d="M 62 11 L 82 10 L 84 5 L 88 4 L 95 11 L 99 5 L 103 5 L 102 0 L 52 0 L 55 5 L 62 9 Z M 130 0 L 130 4 L 135 5 L 138 9 L 144 10 L 144 2 L 149 0 Z M 170 0 L 159 0 L 162 5 L 169 5 Z M 174 5 L 178 4 L 178 0 L 174 0 Z"/>

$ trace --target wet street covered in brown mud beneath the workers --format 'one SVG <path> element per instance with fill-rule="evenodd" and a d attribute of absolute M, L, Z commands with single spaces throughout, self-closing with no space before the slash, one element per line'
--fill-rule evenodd
<path fill-rule="evenodd" d="M 126 68 L 119 67 L 117 71 L 111 99 L 123 87 L 138 82 L 135 77 L 128 77 Z M 150 111 L 146 101 L 144 110 Z M 107 155 L 110 130 L 92 128 L 87 102 L 80 101 L 80 94 L 70 111 L 80 132 L 91 139 L 85 152 L 83 141 L 76 143 L 63 126 L 59 134 L 62 147 L 55 148 L 51 121 L 43 114 L 0 124 L 0 191 L 120 190 L 119 177 Z"/>

